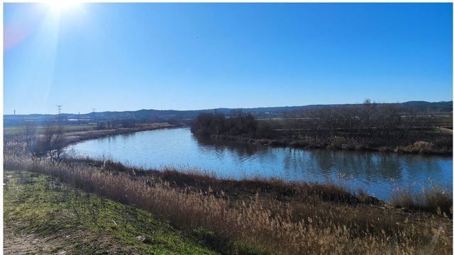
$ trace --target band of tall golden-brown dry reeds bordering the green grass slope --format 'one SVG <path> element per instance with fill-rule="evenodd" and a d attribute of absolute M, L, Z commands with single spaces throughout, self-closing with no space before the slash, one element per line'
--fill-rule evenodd
<path fill-rule="evenodd" d="M 173 225 L 198 227 L 273 254 L 445 254 L 452 251 L 452 221 L 405 222 L 383 208 L 327 203 L 309 196 L 304 203 L 261 198 L 232 201 L 210 189 L 199 193 L 172 188 L 153 176 L 106 171 L 87 164 L 49 162 L 4 155 L 5 169 L 57 176 L 84 191 L 135 205 Z M 408 219 L 407 219 L 408 220 Z M 445 224 L 444 221 L 443 224 Z"/>

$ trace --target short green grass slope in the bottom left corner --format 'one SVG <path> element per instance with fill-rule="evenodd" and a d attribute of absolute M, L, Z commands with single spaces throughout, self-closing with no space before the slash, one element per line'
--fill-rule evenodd
<path fill-rule="evenodd" d="M 4 172 L 5 254 L 215 254 L 150 212 L 54 177 Z"/>

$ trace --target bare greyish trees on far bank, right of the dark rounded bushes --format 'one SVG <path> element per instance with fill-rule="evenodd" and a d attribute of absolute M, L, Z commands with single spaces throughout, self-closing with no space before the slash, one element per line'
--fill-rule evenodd
<path fill-rule="evenodd" d="M 416 114 L 402 114 L 399 106 L 371 103 L 360 105 L 326 106 L 285 116 L 289 130 L 299 134 L 319 136 L 343 133 L 350 137 L 405 138 L 414 125 Z"/>

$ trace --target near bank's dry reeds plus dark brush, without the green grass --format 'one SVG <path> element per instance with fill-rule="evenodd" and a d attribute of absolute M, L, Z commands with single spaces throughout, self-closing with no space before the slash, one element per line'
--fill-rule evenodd
<path fill-rule="evenodd" d="M 7 169 L 56 176 L 73 187 L 151 212 L 225 254 L 447 254 L 453 223 L 445 213 L 403 210 L 336 186 L 279 181 L 216 181 L 210 176 L 104 162 L 4 157 Z M 230 188 L 229 188 L 230 187 Z M 348 198 L 348 199 L 346 199 Z M 452 202 L 450 211 L 452 213 Z M 204 229 L 198 231 L 197 229 Z M 250 247 L 255 247 L 250 249 Z"/>

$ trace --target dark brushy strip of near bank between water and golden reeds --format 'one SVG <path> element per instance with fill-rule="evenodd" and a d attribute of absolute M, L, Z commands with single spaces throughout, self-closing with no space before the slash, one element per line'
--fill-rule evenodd
<path fill-rule="evenodd" d="M 196 170 L 179 170 L 172 167 L 164 169 L 143 169 L 125 166 L 111 160 L 96 160 L 90 158 L 68 159 L 70 164 L 94 166 L 101 171 L 128 174 L 137 178 L 151 178 L 170 183 L 170 187 L 179 191 L 201 192 L 209 191 L 212 196 L 222 198 L 228 196 L 231 200 L 243 200 L 254 197 L 257 193 L 266 199 L 280 202 L 306 200 L 309 197 L 348 205 L 380 205 L 394 206 L 403 210 L 432 212 L 434 214 L 452 215 L 452 193 L 443 186 L 428 186 L 421 193 L 409 193 L 405 189 L 396 191 L 391 200 L 380 200 L 364 191 L 353 191 L 336 183 L 309 183 L 301 181 L 283 181 L 282 179 L 223 179 L 212 174 Z M 221 195 L 222 194 L 222 195 Z"/>

